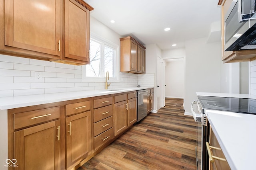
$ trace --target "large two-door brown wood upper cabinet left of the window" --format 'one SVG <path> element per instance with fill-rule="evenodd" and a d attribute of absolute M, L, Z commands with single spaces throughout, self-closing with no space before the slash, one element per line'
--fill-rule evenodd
<path fill-rule="evenodd" d="M 90 10 L 83 0 L 2 0 L 0 53 L 88 64 Z"/>

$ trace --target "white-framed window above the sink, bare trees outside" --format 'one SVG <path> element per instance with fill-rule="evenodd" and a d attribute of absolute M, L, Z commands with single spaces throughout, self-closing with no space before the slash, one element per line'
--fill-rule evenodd
<path fill-rule="evenodd" d="M 106 72 L 109 81 L 119 81 L 119 46 L 102 38 L 90 38 L 90 64 L 84 65 L 83 82 L 105 82 Z"/>

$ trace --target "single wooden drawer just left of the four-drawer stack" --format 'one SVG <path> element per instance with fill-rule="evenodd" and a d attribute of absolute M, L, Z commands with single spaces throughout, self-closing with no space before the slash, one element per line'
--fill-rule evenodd
<path fill-rule="evenodd" d="M 74 113 L 80 113 L 91 109 L 91 101 L 73 103 L 66 105 L 66 115 L 72 115 Z"/>

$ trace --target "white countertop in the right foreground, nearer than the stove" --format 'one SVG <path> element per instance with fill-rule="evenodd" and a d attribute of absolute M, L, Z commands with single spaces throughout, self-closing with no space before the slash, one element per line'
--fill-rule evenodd
<path fill-rule="evenodd" d="M 255 169 L 256 115 L 205 110 L 232 170 Z"/>

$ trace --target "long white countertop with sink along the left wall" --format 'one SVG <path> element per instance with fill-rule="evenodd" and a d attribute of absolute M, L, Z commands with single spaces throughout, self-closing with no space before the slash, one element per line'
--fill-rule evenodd
<path fill-rule="evenodd" d="M 103 96 L 108 94 L 116 94 L 122 92 L 130 92 L 134 90 L 142 90 L 154 87 L 130 87 L 108 90 L 90 90 L 53 94 L 38 94 L 28 96 L 14 96 L 0 98 L 0 110 L 13 109 L 18 107 L 34 106 L 39 104 L 48 104 L 54 102 L 62 102 L 67 100 L 75 100 L 81 98 L 90 98 L 94 96 Z M 121 89 L 121 90 L 120 90 Z"/>

